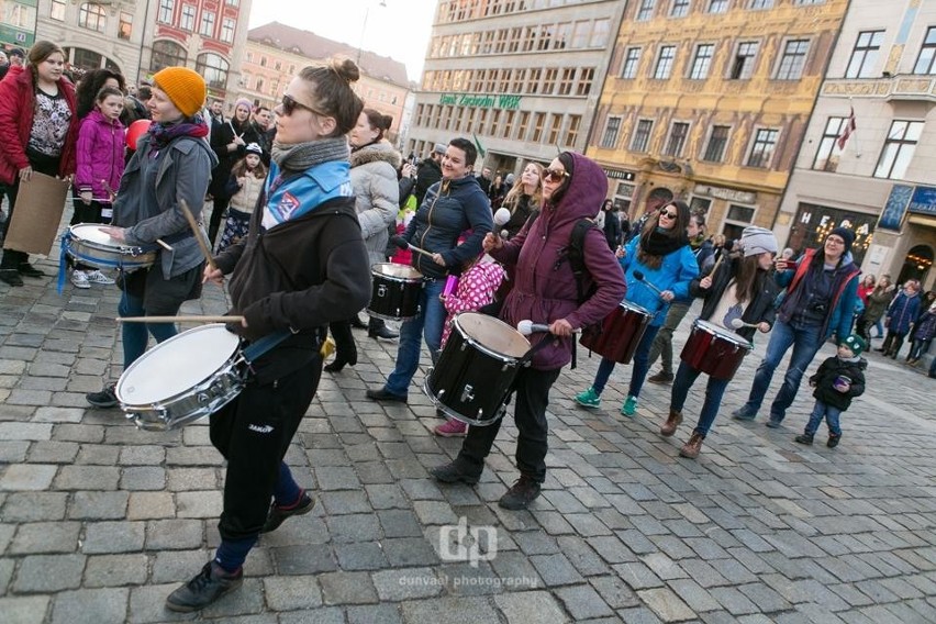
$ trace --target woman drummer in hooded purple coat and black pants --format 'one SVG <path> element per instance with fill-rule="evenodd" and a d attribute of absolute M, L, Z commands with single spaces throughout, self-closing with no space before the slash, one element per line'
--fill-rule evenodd
<path fill-rule="evenodd" d="M 527 221 L 510 242 L 493 234 L 484 237 L 486 252 L 508 266 L 516 265 L 515 283 L 504 300 L 501 320 L 512 326 L 523 320 L 549 325 L 548 334 L 531 335 L 534 345 L 539 341 L 549 344 L 536 352 L 532 366 L 521 370 L 514 386 L 520 479 L 498 501 L 504 509 L 525 509 L 539 495 L 546 479 L 549 389 L 571 359 L 572 332 L 604 319 L 626 291 L 624 275 L 601 230 L 591 229 L 586 235 L 584 291 L 590 291 L 592 285 L 594 291 L 581 304 L 566 258 L 576 223 L 594 216 L 594 207 L 606 191 L 608 179 L 598 165 L 580 154 L 564 152 L 543 171 L 545 201 L 538 216 Z M 477 483 L 500 425 L 497 421 L 488 426 L 468 427 L 458 457 L 433 468 L 433 477 L 446 483 Z"/>

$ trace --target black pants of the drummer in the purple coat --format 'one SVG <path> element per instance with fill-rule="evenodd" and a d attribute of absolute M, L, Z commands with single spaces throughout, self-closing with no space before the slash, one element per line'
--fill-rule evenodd
<path fill-rule="evenodd" d="M 546 480 L 546 452 L 549 450 L 546 408 L 549 405 L 549 389 L 559 378 L 560 370 L 524 368 L 516 379 L 516 408 L 513 413 L 519 430 L 516 467 L 521 475 L 537 483 Z M 494 438 L 501 430 L 501 421 L 502 419 L 488 426 L 468 427 L 468 435 L 457 459 L 464 469 L 476 475 L 481 473 L 484 458 L 491 453 Z"/>

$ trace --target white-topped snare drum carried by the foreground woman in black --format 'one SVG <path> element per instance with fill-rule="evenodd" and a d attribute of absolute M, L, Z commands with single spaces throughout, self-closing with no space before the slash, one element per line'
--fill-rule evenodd
<path fill-rule="evenodd" d="M 243 388 L 239 344 L 221 323 L 159 343 L 120 376 L 121 409 L 145 431 L 174 430 L 215 412 Z"/>

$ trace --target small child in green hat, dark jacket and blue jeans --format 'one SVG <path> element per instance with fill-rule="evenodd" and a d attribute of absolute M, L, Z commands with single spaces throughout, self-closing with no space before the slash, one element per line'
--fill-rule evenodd
<path fill-rule="evenodd" d="M 838 416 L 851 404 L 851 399 L 865 393 L 865 369 L 868 360 L 861 357 L 868 345 L 857 334 L 853 334 L 838 344 L 838 355 L 832 356 L 820 365 L 816 374 L 810 377 L 810 386 L 815 388 L 813 397 L 816 404 L 810 414 L 810 422 L 802 435 L 794 439 L 800 444 L 812 444 L 820 421 L 825 416 L 828 424 L 826 446 L 835 448 L 842 439 Z"/>

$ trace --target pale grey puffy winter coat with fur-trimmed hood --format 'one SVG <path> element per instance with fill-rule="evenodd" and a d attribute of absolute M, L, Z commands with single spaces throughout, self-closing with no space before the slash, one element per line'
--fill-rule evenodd
<path fill-rule="evenodd" d="M 350 156 L 350 179 L 355 194 L 357 220 L 370 263 L 386 259 L 387 227 L 397 220 L 400 210 L 400 185 L 397 169 L 403 158 L 389 143 L 366 145 Z"/>

